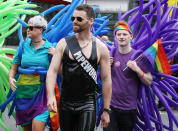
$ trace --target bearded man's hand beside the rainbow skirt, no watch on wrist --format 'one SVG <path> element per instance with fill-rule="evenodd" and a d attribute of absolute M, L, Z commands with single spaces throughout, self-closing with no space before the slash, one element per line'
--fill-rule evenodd
<path fill-rule="evenodd" d="M 55 96 L 48 97 L 47 106 L 48 106 L 49 112 L 54 112 L 54 113 L 57 112 L 57 104 L 56 104 L 56 98 L 55 98 Z"/>

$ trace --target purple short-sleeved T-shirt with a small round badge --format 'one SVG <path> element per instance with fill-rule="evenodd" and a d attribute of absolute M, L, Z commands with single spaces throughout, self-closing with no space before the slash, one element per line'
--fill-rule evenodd
<path fill-rule="evenodd" d="M 112 76 L 112 98 L 111 106 L 121 110 L 131 110 L 137 108 L 137 94 L 139 87 L 139 77 L 137 73 L 126 64 L 136 51 L 132 49 L 128 54 L 120 54 L 118 50 L 114 54 L 114 63 L 111 67 Z M 146 73 L 149 71 L 149 62 L 145 56 L 137 59 L 137 65 Z"/>

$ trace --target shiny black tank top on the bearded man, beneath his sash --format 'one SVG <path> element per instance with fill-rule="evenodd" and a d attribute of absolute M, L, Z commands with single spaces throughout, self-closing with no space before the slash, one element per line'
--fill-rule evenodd
<path fill-rule="evenodd" d="M 75 37 L 76 39 L 76 37 Z M 71 41 L 73 42 L 73 41 Z M 79 44 L 79 43 L 76 43 Z M 97 71 L 96 41 L 92 42 L 91 56 L 88 61 Z M 69 58 L 69 48 L 66 46 L 63 54 L 61 100 L 87 101 L 95 100 L 95 87 L 91 84 L 91 78 L 76 60 Z"/>

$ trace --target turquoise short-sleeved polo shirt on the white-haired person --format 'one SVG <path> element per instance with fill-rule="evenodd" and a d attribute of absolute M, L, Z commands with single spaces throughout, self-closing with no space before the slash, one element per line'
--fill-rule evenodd
<path fill-rule="evenodd" d="M 49 67 L 49 57 L 48 57 L 48 50 L 52 46 L 50 42 L 47 40 L 45 41 L 44 45 L 42 45 L 37 50 L 34 48 L 31 41 L 27 41 L 23 45 L 23 53 L 22 53 L 22 59 L 20 62 L 20 57 L 18 55 L 19 48 L 17 49 L 13 64 L 21 65 L 23 68 L 28 67 Z"/>

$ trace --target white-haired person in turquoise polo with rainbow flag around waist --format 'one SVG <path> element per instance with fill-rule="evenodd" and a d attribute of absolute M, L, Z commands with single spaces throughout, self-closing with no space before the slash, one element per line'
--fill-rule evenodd
<path fill-rule="evenodd" d="M 16 124 L 21 125 L 24 131 L 43 131 L 49 116 L 44 83 L 40 74 L 20 74 L 17 86 L 15 76 L 18 67 L 42 67 L 48 69 L 49 54 L 53 54 L 52 44 L 42 38 L 47 21 L 41 16 L 29 19 L 27 26 L 28 39 L 18 48 L 9 72 L 11 89 L 16 89 Z M 20 55 L 20 52 L 22 54 Z M 45 78 L 45 77 L 44 77 Z"/>

